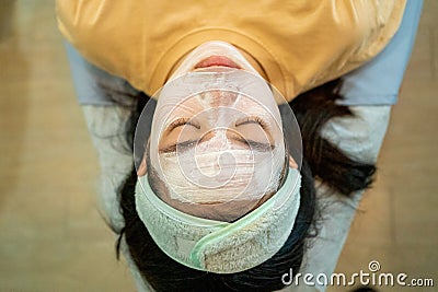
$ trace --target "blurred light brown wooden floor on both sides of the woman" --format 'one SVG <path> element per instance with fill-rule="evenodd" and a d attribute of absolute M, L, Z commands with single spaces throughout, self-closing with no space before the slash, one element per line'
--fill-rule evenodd
<path fill-rule="evenodd" d="M 438 285 L 437 92 L 438 1 L 425 0 L 378 179 L 338 272 L 367 271 L 378 260 L 382 271 L 435 278 Z M 135 290 L 96 208 L 97 175 L 54 1 L 1 0 L 0 291 Z"/>

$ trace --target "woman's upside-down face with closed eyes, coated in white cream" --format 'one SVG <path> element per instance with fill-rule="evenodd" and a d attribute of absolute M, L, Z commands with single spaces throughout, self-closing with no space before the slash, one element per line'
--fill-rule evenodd
<path fill-rule="evenodd" d="M 149 154 L 169 200 L 239 202 L 246 213 L 276 191 L 286 157 L 281 117 L 269 85 L 237 48 L 199 46 L 157 97 Z"/>

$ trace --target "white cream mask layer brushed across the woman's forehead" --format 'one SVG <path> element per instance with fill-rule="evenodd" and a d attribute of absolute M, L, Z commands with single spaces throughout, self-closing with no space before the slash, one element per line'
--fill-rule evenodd
<path fill-rule="evenodd" d="M 170 198 L 182 202 L 258 201 L 277 190 L 284 161 L 284 149 L 237 149 L 219 131 L 188 151 L 160 154 L 160 176 Z"/>

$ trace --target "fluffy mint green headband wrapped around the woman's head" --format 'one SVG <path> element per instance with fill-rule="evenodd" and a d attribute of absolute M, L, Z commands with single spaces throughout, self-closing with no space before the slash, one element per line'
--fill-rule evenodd
<path fill-rule="evenodd" d="M 136 186 L 136 208 L 153 241 L 172 259 L 197 270 L 233 273 L 266 261 L 281 248 L 298 213 L 300 186 L 300 173 L 289 168 L 285 184 L 272 198 L 229 223 L 172 208 L 142 176 Z"/>

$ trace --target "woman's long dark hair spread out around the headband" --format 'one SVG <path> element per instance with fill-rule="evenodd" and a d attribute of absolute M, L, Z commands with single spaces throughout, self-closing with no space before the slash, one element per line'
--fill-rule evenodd
<path fill-rule="evenodd" d="M 135 170 L 131 171 L 119 190 L 125 227 L 118 246 L 122 236 L 125 236 L 134 262 L 155 291 L 273 291 L 284 288 L 284 273 L 290 269 L 293 273 L 298 272 L 307 238 L 316 234 L 314 178 L 320 178 L 331 188 L 348 196 L 355 190 L 369 187 L 376 171 L 371 164 L 346 156 L 321 136 L 322 127 L 331 118 L 351 116 L 347 106 L 335 103 L 342 98 L 339 86 L 339 80 L 332 81 L 289 103 L 301 128 L 303 142 L 301 205 L 293 230 L 281 249 L 252 269 L 218 275 L 187 268 L 168 257 L 153 242 L 137 214 L 134 197 L 137 174 Z M 137 110 L 127 125 L 130 144 L 131 133 L 146 102 L 145 96 L 140 98 Z"/>

